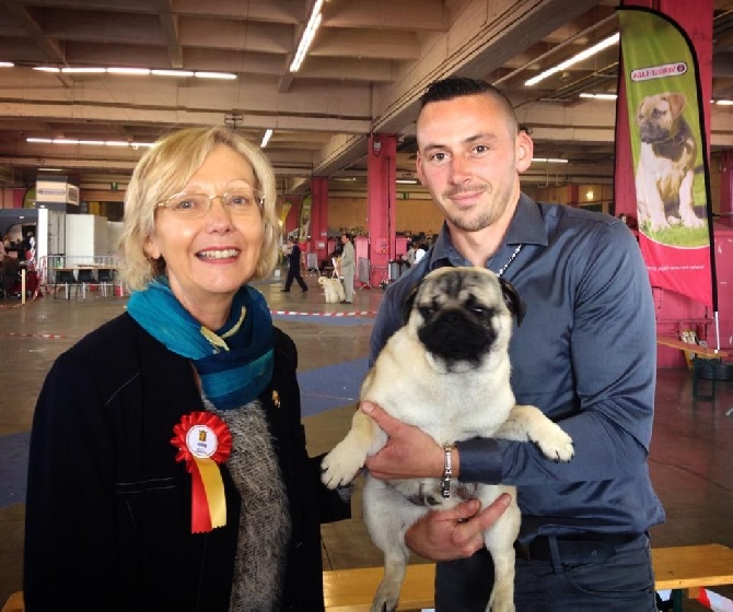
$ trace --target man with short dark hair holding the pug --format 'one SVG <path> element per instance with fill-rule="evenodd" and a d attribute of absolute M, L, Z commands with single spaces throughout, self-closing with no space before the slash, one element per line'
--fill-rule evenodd
<path fill-rule="evenodd" d="M 403 325 L 405 297 L 431 270 L 479 266 L 511 282 L 526 305 L 510 344 L 516 401 L 557 421 L 575 456 L 554 463 L 532 444 L 444 440 L 453 475 L 519 486 L 517 611 L 655 611 L 648 529 L 664 520 L 648 464 L 655 322 L 633 235 L 612 216 L 522 193 L 533 142 L 509 101 L 484 81 L 432 83 L 416 133 L 418 176 L 445 222 L 428 255 L 387 289 L 372 363 Z M 362 410 L 388 435 L 366 461 L 372 475 L 444 475 L 442 445 L 374 404 Z M 470 501 L 430 511 L 405 534 L 414 551 L 439 562 L 439 612 L 486 609 L 493 572 L 481 532 L 489 510 L 476 514 Z"/>

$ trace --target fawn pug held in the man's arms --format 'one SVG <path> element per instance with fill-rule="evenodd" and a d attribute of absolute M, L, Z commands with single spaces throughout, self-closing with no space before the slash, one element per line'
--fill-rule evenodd
<path fill-rule="evenodd" d="M 405 306 L 407 323 L 392 336 L 364 379 L 360 398 L 427 432 L 441 446 L 476 436 L 533 442 L 548 459 L 569 461 L 572 439 L 532 405 L 516 405 L 508 346 L 524 306 L 510 283 L 484 268 L 440 268 L 428 274 Z M 346 485 L 386 434 L 357 411 L 346 437 L 324 458 L 323 482 Z M 446 451 L 447 452 L 447 451 Z M 382 481 L 366 474 L 363 514 L 372 541 L 384 552 L 384 577 L 372 612 L 396 609 L 409 551 L 404 533 L 430 509 L 477 497 L 481 507 L 502 492 L 507 511 L 485 532 L 495 565 L 487 610 L 514 611 L 514 541 L 520 509 L 513 487 L 447 479 Z"/>

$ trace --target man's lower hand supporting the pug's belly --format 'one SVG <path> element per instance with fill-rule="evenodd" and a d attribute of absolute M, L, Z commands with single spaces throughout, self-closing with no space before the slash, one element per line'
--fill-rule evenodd
<path fill-rule="evenodd" d="M 405 542 L 432 561 L 468 557 L 484 546 L 484 531 L 499 519 L 510 502 L 509 494 L 502 493 L 478 514 L 478 499 L 463 502 L 452 510 L 431 510 L 405 532 Z"/>

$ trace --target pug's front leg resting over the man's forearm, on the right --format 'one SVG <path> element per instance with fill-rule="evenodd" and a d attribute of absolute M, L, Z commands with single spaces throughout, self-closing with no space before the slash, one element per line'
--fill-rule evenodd
<path fill-rule="evenodd" d="M 575 454 L 572 438 L 534 405 L 517 404 L 512 408 L 509 419 L 493 436 L 515 442 L 533 442 L 552 461 L 570 461 Z"/>

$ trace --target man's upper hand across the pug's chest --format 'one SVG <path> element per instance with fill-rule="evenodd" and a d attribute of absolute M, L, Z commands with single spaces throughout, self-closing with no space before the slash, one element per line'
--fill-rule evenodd
<path fill-rule="evenodd" d="M 360 410 L 374 419 L 388 436 L 382 450 L 366 458 L 365 466 L 370 474 L 377 479 L 441 478 L 443 475 L 445 452 L 443 447 L 428 434 L 389 416 L 375 403 L 362 402 Z M 457 451 L 455 450 L 453 458 L 453 474 L 457 476 Z"/>

